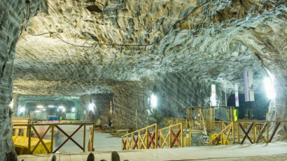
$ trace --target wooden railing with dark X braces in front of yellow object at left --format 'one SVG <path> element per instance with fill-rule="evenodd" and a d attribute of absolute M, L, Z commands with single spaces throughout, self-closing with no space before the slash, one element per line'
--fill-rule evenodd
<path fill-rule="evenodd" d="M 66 132 L 64 132 L 64 130 L 62 130 L 62 128 L 59 128 L 59 125 L 79 125 L 79 127 L 71 135 L 67 135 Z M 91 129 L 91 132 L 90 132 L 90 139 L 89 139 L 89 142 L 88 142 L 87 149 L 88 149 L 88 151 L 93 151 L 94 123 L 14 124 L 14 127 L 19 127 L 19 126 L 20 127 L 23 127 L 23 126 L 27 127 L 27 135 L 28 135 L 28 146 L 27 146 L 27 148 L 28 148 L 29 154 L 33 154 L 39 144 L 43 145 L 43 147 L 45 148 L 45 151 L 47 153 L 56 153 L 59 150 L 59 148 L 64 146 L 64 144 L 66 144 L 66 141 L 69 141 L 69 140 L 73 141 L 73 143 L 76 144 L 81 150 L 85 151 L 85 130 L 86 130 L 86 125 L 92 125 L 92 129 Z M 36 126 L 48 126 L 48 128 L 47 128 L 47 130 L 45 130 L 43 135 L 40 136 L 38 131 L 35 128 Z M 82 127 L 83 127 L 83 146 L 80 146 L 80 144 L 78 144 L 78 142 L 76 142 L 72 137 Z M 55 133 L 54 130 L 55 129 L 58 129 L 60 132 L 62 132 L 68 138 L 61 145 L 59 145 L 59 147 L 55 151 L 53 151 L 54 133 Z M 36 144 L 36 146 L 34 146 L 32 151 L 31 151 L 31 130 L 34 130 L 34 132 L 36 134 L 36 138 L 39 139 L 38 143 Z M 50 144 L 51 145 L 50 145 L 50 149 L 47 148 L 47 146 L 45 145 L 45 142 L 43 141 L 43 138 L 45 137 L 45 135 L 48 133 L 49 130 L 51 130 L 51 139 L 50 139 Z M 22 148 L 24 148 L 24 146 Z"/>

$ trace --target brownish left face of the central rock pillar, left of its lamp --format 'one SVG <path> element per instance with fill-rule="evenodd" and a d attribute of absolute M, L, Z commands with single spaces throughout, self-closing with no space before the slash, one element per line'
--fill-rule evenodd
<path fill-rule="evenodd" d="M 148 125 L 148 97 L 151 85 L 148 79 L 139 82 L 123 82 L 112 86 L 113 125 L 118 129 L 139 130 Z"/>

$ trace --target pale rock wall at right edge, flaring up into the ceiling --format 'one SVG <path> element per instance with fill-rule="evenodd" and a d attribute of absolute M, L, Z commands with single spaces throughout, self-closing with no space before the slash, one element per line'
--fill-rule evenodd
<path fill-rule="evenodd" d="M 270 12 L 263 13 L 260 17 L 255 17 L 257 22 L 251 22 L 250 17 L 247 22 L 249 29 L 239 33 L 241 43 L 248 47 L 251 52 L 258 57 L 262 69 L 266 70 L 266 75 L 269 72 L 275 77 L 276 98 L 270 102 L 267 120 L 286 120 L 286 76 L 287 76 L 287 2 L 278 1 L 278 7 Z M 274 16 L 269 18 L 269 16 Z M 249 33 L 244 36 L 244 33 Z M 241 35 L 242 34 L 242 35 Z M 274 128 L 274 125 L 272 125 Z M 269 128 L 270 131 L 273 128 Z M 277 136 L 278 134 L 278 136 Z M 282 123 L 276 133 L 275 139 L 286 138 L 287 128 L 286 123 Z"/>

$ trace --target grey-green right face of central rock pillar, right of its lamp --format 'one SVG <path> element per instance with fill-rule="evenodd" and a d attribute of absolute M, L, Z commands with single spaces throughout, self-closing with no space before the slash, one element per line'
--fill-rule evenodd
<path fill-rule="evenodd" d="M 157 75 L 153 93 L 158 97 L 157 114 L 161 117 L 183 118 L 186 107 L 211 106 L 211 84 L 216 85 L 216 105 L 225 105 L 225 86 L 187 73 Z M 227 97 L 232 91 L 227 90 Z M 227 119 L 223 108 L 216 109 L 216 118 Z"/>

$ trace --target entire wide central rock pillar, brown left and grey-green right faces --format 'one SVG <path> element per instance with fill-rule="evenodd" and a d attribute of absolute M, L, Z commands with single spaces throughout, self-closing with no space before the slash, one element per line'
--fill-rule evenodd
<path fill-rule="evenodd" d="M 141 79 L 139 82 L 125 82 L 113 86 L 115 100 L 114 123 L 118 128 L 144 128 L 153 123 L 163 125 L 163 119 L 183 118 L 186 107 L 210 106 L 211 84 L 205 79 L 193 79 L 185 73 L 165 73 Z M 152 107 L 151 95 L 157 98 Z M 227 93 L 229 96 L 231 92 Z M 225 105 L 225 89 L 216 84 L 217 105 Z M 224 114 L 217 110 L 217 118 Z"/>

